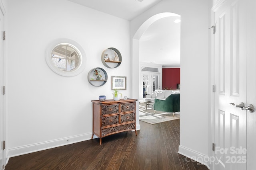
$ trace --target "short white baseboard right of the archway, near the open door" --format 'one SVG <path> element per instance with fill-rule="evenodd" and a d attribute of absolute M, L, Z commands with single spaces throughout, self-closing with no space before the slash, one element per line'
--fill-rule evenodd
<path fill-rule="evenodd" d="M 196 162 L 199 162 L 200 164 L 205 165 L 208 169 L 210 169 L 210 162 L 209 157 L 203 154 L 200 154 L 196 152 L 195 150 L 188 149 L 186 147 L 179 146 L 179 154 L 182 154 L 183 156 L 186 156 L 192 160 L 195 160 Z M 188 160 L 190 161 L 190 160 Z"/>

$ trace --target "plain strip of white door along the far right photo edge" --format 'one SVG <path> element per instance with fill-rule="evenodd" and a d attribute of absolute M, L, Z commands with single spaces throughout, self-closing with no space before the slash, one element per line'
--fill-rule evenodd
<path fill-rule="evenodd" d="M 247 5 L 247 105 L 256 107 L 256 0 Z M 247 169 L 256 167 L 256 111 L 247 112 Z"/>

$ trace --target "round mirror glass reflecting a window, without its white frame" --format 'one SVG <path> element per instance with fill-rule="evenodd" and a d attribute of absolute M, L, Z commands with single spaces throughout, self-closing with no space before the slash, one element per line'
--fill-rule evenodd
<path fill-rule="evenodd" d="M 70 45 L 58 45 L 52 51 L 52 63 L 60 70 L 71 71 L 80 65 L 80 55 Z"/>

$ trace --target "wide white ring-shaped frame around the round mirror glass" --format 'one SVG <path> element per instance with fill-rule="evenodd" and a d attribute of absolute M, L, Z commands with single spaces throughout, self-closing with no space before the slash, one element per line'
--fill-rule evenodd
<path fill-rule="evenodd" d="M 54 63 L 52 62 L 51 56 L 52 56 L 53 49 L 58 45 L 70 45 L 71 47 L 76 49 L 76 51 L 78 52 L 78 55 L 80 55 L 80 64 L 77 66 L 77 68 L 75 68 L 72 71 L 64 71 L 64 70 L 60 70 L 54 65 Z M 46 49 L 45 60 L 48 66 L 52 69 L 52 71 L 56 72 L 61 76 L 68 76 L 68 77 L 76 76 L 80 74 L 86 66 L 86 55 L 84 53 L 83 48 L 78 43 L 76 43 L 71 39 L 56 39 L 55 41 L 50 43 L 50 45 Z"/>

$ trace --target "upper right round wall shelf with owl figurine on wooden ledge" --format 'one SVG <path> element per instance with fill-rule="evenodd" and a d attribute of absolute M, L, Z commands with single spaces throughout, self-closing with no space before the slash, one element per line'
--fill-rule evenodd
<path fill-rule="evenodd" d="M 110 47 L 102 52 L 101 61 L 108 68 L 116 68 L 122 63 L 122 55 L 118 49 Z"/>

